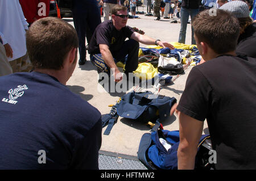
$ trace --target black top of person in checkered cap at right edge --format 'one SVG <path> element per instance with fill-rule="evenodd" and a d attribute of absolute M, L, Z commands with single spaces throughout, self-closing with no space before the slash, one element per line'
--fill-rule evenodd
<path fill-rule="evenodd" d="M 251 24 L 240 35 L 236 53 L 256 58 L 256 23 Z"/>

